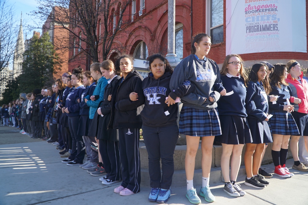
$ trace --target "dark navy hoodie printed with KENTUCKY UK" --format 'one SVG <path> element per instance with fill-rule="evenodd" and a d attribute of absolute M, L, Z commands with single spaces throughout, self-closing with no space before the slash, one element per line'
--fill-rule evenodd
<path fill-rule="evenodd" d="M 154 79 L 153 73 L 142 81 L 143 94 L 145 96 L 144 109 L 141 112 L 143 125 L 148 127 L 167 127 L 176 125 L 178 105 L 168 107 L 165 103 L 166 97 L 170 95 L 173 100 L 182 97 L 195 90 L 190 81 L 185 81 L 179 88 L 171 91 L 169 89 L 171 73 L 164 73 L 158 79 Z M 138 100 L 140 100 L 138 93 Z"/>

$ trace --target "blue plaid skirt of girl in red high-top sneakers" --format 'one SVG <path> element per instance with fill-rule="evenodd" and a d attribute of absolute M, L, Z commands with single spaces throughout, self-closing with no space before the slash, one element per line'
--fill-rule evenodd
<path fill-rule="evenodd" d="M 269 120 L 272 134 L 276 135 L 298 135 L 298 128 L 290 112 L 270 111 L 273 115 Z"/>

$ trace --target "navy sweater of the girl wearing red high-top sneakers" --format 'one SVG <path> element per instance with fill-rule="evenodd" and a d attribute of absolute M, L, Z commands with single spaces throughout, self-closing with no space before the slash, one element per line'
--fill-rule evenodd
<path fill-rule="evenodd" d="M 269 102 L 269 109 L 273 111 L 283 111 L 283 106 L 287 105 L 287 99 L 290 100 L 292 90 L 289 85 L 280 85 L 281 88 L 272 85 L 272 91 L 269 95 L 278 95 L 276 104 Z"/>

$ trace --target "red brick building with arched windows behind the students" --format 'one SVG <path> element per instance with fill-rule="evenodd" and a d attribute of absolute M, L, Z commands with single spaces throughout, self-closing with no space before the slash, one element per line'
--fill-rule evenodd
<path fill-rule="evenodd" d="M 192 6 L 193 36 L 201 32 L 212 36 L 212 46 L 208 57 L 220 66 L 226 56 L 226 3 L 229 3 L 229 1 L 231 0 L 194 0 Z M 242 1 L 241 3 L 251 2 L 255 4 L 259 2 L 259 0 L 240 1 Z M 277 1 L 267 2 L 277 3 Z M 308 0 L 306 0 L 307 6 Z M 119 6 L 115 6 L 115 9 L 111 12 L 117 14 L 119 8 Z M 191 53 L 190 8 L 189 0 L 176 0 L 176 54 L 180 58 L 187 57 Z M 118 21 L 118 17 L 112 14 L 109 18 L 111 25 L 113 25 L 112 22 Z M 130 26 L 120 31 L 122 35 L 115 39 L 113 43 L 115 49 L 111 51 L 109 58 L 114 59 L 115 55 L 120 52 L 130 53 L 137 59 L 135 69 L 145 72 L 145 59 L 148 55 L 157 52 L 167 53 L 168 1 L 134 0 L 124 14 L 123 21 L 130 21 Z M 306 12 L 306 17 L 308 17 L 307 15 Z M 306 21 L 308 21 L 308 18 L 305 19 Z M 98 28 L 101 27 L 98 26 Z M 98 29 L 97 32 L 101 31 Z M 70 49 L 69 70 L 74 69 L 79 64 L 77 63 L 77 54 L 78 49 L 75 49 L 75 51 Z M 290 59 L 296 59 L 303 67 L 308 67 L 308 54 L 302 52 L 246 53 L 241 54 L 241 57 L 245 61 L 245 66 L 251 66 L 260 61 L 269 61 L 274 64 L 277 62 L 286 63 Z M 86 69 L 87 66 L 82 67 Z"/>

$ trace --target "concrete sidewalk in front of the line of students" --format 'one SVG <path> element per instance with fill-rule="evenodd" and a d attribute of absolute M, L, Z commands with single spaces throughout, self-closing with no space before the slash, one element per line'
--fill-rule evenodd
<path fill-rule="evenodd" d="M 1 132 L 0 129 L 0 137 Z M 103 185 L 99 177 L 91 176 L 79 166 L 67 166 L 61 160 L 55 146 L 44 141 L 0 145 L 0 205 L 158 204 L 148 202 L 149 187 L 141 187 L 140 193 L 131 196 L 120 196 L 113 192 L 120 183 Z M 292 163 L 292 159 L 288 160 L 287 166 L 291 167 Z M 274 170 L 273 164 L 264 167 Z M 227 195 L 222 189 L 223 183 L 212 183 L 214 203 L 308 204 L 308 173 L 290 171 L 295 173 L 294 177 L 274 176 L 268 179 L 270 185 L 263 190 L 247 187 L 243 184 L 245 176 L 240 175 L 237 181 L 247 195 L 238 198 Z M 167 204 L 191 204 L 185 197 L 185 186 L 183 178 L 183 187 L 172 188 Z M 195 188 L 198 192 L 200 186 Z M 208 203 L 201 200 L 203 204 Z"/>

